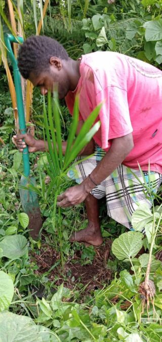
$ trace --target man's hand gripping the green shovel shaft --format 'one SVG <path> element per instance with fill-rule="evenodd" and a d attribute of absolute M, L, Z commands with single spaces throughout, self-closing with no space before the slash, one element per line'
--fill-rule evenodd
<path fill-rule="evenodd" d="M 28 145 L 29 152 L 36 152 L 38 150 L 38 140 L 35 140 L 29 133 L 14 135 L 12 141 L 20 152 L 23 151 L 26 145 Z"/>

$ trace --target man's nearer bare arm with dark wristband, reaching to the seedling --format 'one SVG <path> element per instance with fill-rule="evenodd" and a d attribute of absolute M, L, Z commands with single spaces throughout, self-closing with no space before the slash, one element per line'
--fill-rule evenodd
<path fill-rule="evenodd" d="M 132 133 L 113 139 L 109 151 L 91 173 L 91 179 L 96 184 L 100 184 L 125 160 L 133 147 Z M 62 195 L 58 196 L 57 205 L 59 207 L 70 207 L 82 203 L 95 187 L 91 179 L 88 177 L 80 185 L 68 188 Z"/>

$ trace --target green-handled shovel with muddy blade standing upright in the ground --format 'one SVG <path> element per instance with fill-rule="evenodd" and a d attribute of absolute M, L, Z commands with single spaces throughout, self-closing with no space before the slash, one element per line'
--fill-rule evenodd
<path fill-rule="evenodd" d="M 10 61 L 13 66 L 14 72 L 14 84 L 16 90 L 16 101 L 17 101 L 17 109 L 18 109 L 18 118 L 19 118 L 19 128 L 20 133 L 26 133 L 26 124 L 25 124 L 25 115 L 24 115 L 24 104 L 22 97 L 22 88 L 21 88 L 21 78 L 20 72 L 18 69 L 17 60 L 14 56 L 11 43 L 23 43 L 23 39 L 21 37 L 14 37 L 12 34 L 5 34 L 5 44 L 7 47 L 7 53 L 10 58 Z M 29 225 L 28 229 L 30 230 L 30 236 L 36 240 L 38 238 L 39 230 L 42 227 L 42 218 L 41 211 L 39 209 L 39 203 L 37 194 L 31 191 L 30 186 L 35 186 L 35 179 L 30 177 L 30 164 L 29 164 L 29 153 L 28 147 L 25 147 L 22 152 L 23 159 L 23 175 L 20 180 L 20 200 L 22 204 L 22 208 L 24 212 L 29 217 Z M 24 188 L 25 187 L 25 188 Z M 28 188 L 28 189 L 27 189 Z"/>

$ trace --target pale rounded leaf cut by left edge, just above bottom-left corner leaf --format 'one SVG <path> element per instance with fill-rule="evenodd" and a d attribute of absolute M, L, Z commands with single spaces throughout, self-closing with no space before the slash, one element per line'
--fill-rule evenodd
<path fill-rule="evenodd" d="M 3 271 L 0 271 L 0 311 L 9 307 L 14 295 L 14 284 L 12 279 Z M 0 333 L 1 341 L 1 333 Z"/>

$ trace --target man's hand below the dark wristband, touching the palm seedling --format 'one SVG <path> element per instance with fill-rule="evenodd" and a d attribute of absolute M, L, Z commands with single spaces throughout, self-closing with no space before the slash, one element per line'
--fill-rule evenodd
<path fill-rule="evenodd" d="M 84 185 L 71 186 L 63 194 L 58 196 L 57 206 L 63 208 L 71 207 L 82 203 L 87 196 L 88 193 L 85 191 Z"/>

